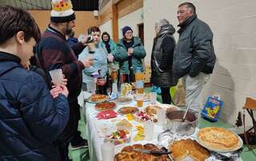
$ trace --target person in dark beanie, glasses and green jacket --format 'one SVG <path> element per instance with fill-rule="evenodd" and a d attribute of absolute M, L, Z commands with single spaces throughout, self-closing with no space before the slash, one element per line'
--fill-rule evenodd
<path fill-rule="evenodd" d="M 142 69 L 142 59 L 146 57 L 146 51 L 139 37 L 133 36 L 130 26 L 122 28 L 123 38 L 118 41 L 117 48 L 114 50 L 114 61 L 119 62 L 121 73 L 129 74 L 130 68 Z"/>

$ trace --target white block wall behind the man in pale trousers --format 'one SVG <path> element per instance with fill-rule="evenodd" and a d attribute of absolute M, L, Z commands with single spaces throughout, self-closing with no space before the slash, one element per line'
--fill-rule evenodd
<path fill-rule="evenodd" d="M 157 5 L 156 5 L 157 2 Z M 179 0 L 144 0 L 144 37 L 150 53 L 154 22 L 166 18 L 176 29 Z M 256 98 L 256 6 L 255 0 L 187 0 L 197 8 L 198 18 L 214 32 L 214 49 L 218 57 L 214 73 L 206 85 L 205 95 L 219 94 L 224 100 L 222 119 L 235 124 L 246 96 Z M 178 38 L 178 34 L 174 35 Z M 146 63 L 150 61 L 150 54 Z M 247 117 L 248 118 L 248 117 Z"/>

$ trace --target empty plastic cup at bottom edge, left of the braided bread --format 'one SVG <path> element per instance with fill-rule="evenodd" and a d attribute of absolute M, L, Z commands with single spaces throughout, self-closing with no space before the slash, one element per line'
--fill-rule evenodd
<path fill-rule="evenodd" d="M 113 161 L 114 160 L 114 144 L 113 143 L 102 143 L 102 161 Z"/>

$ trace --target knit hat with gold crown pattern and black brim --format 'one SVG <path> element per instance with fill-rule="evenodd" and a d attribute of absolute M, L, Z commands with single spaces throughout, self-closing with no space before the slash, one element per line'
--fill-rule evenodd
<path fill-rule="evenodd" d="M 70 22 L 75 19 L 73 6 L 70 0 L 52 0 L 52 10 L 50 12 L 50 21 L 62 23 Z"/>

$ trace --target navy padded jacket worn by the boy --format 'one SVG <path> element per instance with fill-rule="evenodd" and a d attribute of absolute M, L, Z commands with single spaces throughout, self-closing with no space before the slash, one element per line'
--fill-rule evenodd
<path fill-rule="evenodd" d="M 53 99 L 43 78 L 0 52 L 0 160 L 59 160 L 53 142 L 69 120 L 66 96 Z"/>

